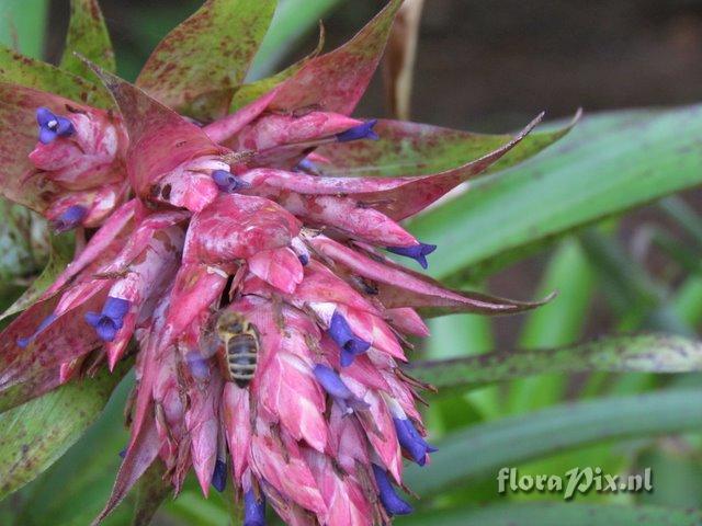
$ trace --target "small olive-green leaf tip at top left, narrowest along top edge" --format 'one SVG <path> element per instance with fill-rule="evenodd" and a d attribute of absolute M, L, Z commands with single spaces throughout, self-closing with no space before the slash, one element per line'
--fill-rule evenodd
<path fill-rule="evenodd" d="M 114 72 L 114 50 L 107 26 L 98 0 L 71 0 L 70 22 L 66 35 L 66 49 L 61 57 L 61 69 L 87 79 L 94 79 L 91 69 L 73 53 L 78 53 L 102 69 Z"/>

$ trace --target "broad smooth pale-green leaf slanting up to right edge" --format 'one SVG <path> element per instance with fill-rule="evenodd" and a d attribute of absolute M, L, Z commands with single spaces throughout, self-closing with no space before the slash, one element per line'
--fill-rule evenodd
<path fill-rule="evenodd" d="M 681 133 L 684 130 L 684 134 Z M 550 240 L 702 182 L 702 105 L 586 116 L 537 159 L 417 217 L 431 274 L 465 281 Z"/>

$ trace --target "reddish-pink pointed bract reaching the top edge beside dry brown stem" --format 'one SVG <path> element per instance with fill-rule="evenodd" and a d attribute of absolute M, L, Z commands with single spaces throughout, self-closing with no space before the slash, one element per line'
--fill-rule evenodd
<path fill-rule="evenodd" d="M 327 112 L 353 112 L 377 68 L 401 3 L 392 0 L 351 41 L 305 64 L 278 92 L 271 107 L 319 105 Z"/>

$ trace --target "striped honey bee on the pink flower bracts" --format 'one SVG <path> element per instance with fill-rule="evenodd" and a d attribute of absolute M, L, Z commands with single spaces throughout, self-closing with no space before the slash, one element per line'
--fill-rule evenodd
<path fill-rule="evenodd" d="M 248 387 L 256 374 L 259 331 L 239 312 L 225 310 L 217 317 L 215 332 L 219 340 L 217 357 L 225 378 L 241 388 Z"/>

